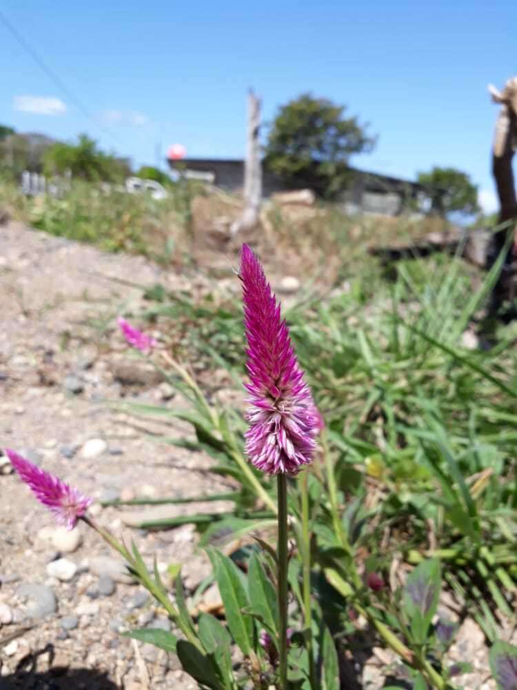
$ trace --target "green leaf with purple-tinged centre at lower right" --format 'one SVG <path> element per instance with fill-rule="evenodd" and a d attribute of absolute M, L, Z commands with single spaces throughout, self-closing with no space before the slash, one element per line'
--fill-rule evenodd
<path fill-rule="evenodd" d="M 423 561 L 410 573 L 403 589 L 403 601 L 414 641 L 423 644 L 429 624 L 438 610 L 441 589 L 440 561 Z"/>

